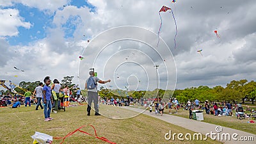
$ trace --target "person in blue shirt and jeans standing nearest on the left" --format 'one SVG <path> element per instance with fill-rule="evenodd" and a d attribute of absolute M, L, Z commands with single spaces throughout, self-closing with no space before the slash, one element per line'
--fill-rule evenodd
<path fill-rule="evenodd" d="M 52 109 L 52 97 L 51 97 L 51 87 L 49 84 L 51 83 L 51 79 L 49 76 L 44 78 L 45 86 L 43 88 L 43 95 L 44 95 L 44 121 L 50 121 L 53 120 L 53 118 L 50 117 L 51 109 Z"/>

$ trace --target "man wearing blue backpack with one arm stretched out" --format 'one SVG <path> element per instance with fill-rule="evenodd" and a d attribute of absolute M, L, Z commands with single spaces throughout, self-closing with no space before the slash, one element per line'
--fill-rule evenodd
<path fill-rule="evenodd" d="M 86 80 L 85 88 L 88 90 L 88 106 L 87 106 L 87 115 L 90 116 L 91 113 L 91 106 L 92 106 L 92 100 L 94 104 L 95 109 L 95 115 L 99 114 L 99 108 L 98 106 L 98 91 L 97 91 L 97 83 L 109 83 L 111 80 L 108 79 L 108 81 L 103 81 L 99 79 L 99 77 L 95 77 L 95 73 L 93 71 L 89 72 L 90 77 Z"/>

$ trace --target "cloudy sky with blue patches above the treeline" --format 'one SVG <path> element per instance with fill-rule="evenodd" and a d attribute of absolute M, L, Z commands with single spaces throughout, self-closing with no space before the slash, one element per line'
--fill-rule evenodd
<path fill-rule="evenodd" d="M 160 13 L 159 31 L 162 6 L 172 11 Z M 255 81 L 255 18 L 253 0 L 2 0 L 0 79 L 74 76 L 84 88 L 95 68 L 100 79 L 111 79 L 100 86 L 113 89 Z"/>

